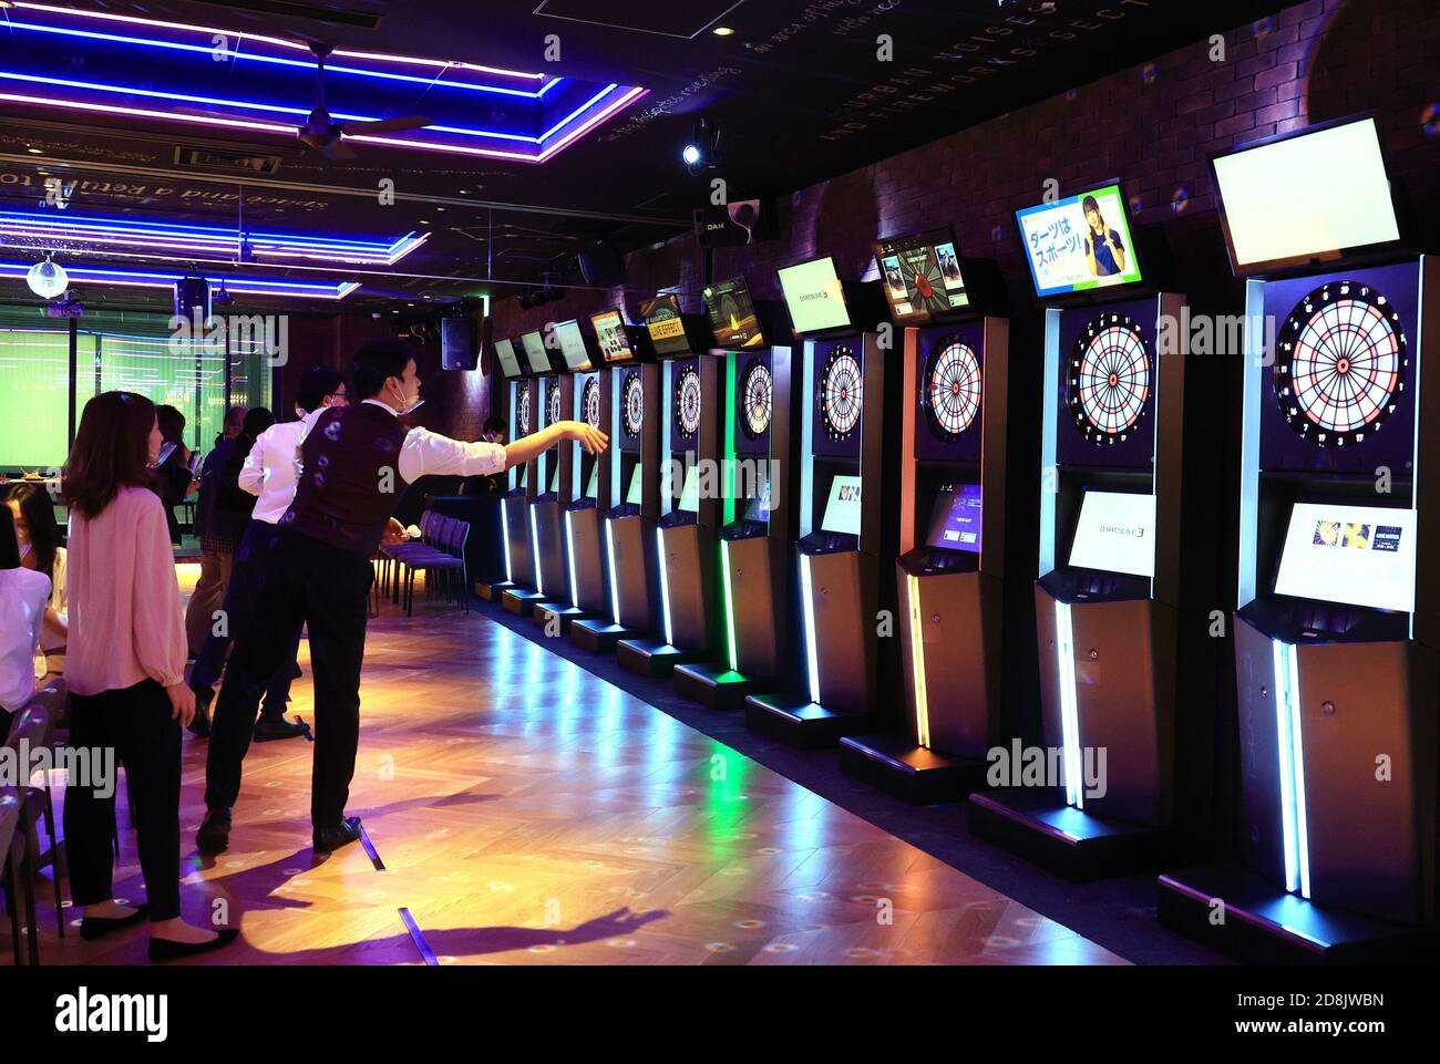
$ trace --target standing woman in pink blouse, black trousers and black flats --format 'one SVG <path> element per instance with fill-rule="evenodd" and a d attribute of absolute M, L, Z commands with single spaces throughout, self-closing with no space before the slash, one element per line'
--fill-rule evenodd
<path fill-rule="evenodd" d="M 183 675 L 186 635 L 164 505 L 150 488 L 160 443 L 148 399 L 105 392 L 85 405 L 65 469 L 71 746 L 112 749 L 125 766 L 148 904 L 121 906 L 112 894 L 115 780 L 72 780 L 65 839 L 71 897 L 85 913 L 81 937 L 148 916 L 150 959 L 170 960 L 225 946 L 239 932 L 180 919 L 180 727 L 194 716 L 194 694 Z M 104 760 L 92 754 L 91 763 Z"/>

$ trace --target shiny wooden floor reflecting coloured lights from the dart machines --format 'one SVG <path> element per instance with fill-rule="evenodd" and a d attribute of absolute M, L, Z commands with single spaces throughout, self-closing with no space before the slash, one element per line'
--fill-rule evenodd
<path fill-rule="evenodd" d="M 310 697 L 307 668 L 292 713 Z M 230 849 L 202 860 L 186 737 L 186 913 L 242 929 L 209 963 L 1125 963 L 454 608 L 372 621 L 361 720 L 350 812 L 383 870 L 361 845 L 315 860 L 305 740 L 252 747 Z M 144 896 L 124 824 L 117 894 Z M 144 963 L 141 929 L 60 940 L 43 904 L 39 924 L 42 962 Z"/>

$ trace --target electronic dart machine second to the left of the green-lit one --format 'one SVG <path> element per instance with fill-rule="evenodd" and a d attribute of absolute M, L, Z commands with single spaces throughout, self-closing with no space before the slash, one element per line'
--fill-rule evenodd
<path fill-rule="evenodd" d="M 642 325 L 625 324 L 619 310 L 592 318 L 600 361 L 600 418 L 611 446 L 596 481 L 598 536 L 608 603 L 598 618 L 576 621 L 570 638 L 588 651 L 609 654 L 632 635 L 651 631 L 658 615 L 655 521 L 660 517 L 660 366 Z M 572 527 L 585 538 L 585 515 Z M 575 553 L 577 583 L 588 553 Z"/>

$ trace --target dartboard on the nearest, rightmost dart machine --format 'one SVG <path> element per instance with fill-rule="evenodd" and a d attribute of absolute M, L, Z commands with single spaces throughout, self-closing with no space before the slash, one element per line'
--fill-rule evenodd
<path fill-rule="evenodd" d="M 1405 387 L 1405 334 L 1390 299 L 1336 281 L 1296 304 L 1280 330 L 1274 390 L 1280 412 L 1318 446 L 1359 443 Z"/>

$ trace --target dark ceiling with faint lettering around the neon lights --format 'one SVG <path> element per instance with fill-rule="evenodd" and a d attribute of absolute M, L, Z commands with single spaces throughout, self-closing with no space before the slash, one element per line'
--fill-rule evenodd
<path fill-rule="evenodd" d="M 0 209 L 35 209 L 46 176 L 75 181 L 71 209 L 246 227 L 397 236 L 429 230 L 393 268 L 327 276 L 363 288 L 344 304 L 446 299 L 531 281 L 606 240 L 621 251 L 690 227 L 710 180 L 730 199 L 773 196 L 854 170 L 1273 10 L 1274 0 L 425 0 L 423 3 L 104 3 L 76 9 L 323 40 L 340 49 L 464 60 L 648 94 L 541 164 L 357 145 L 330 161 L 295 138 L 156 118 L 60 111 L 0 98 Z M 24 4 L 0 17 L 35 17 Z M 717 36 L 716 27 L 729 27 Z M 81 78 L 79 49 L 0 24 L 0 69 L 48 49 L 56 76 Z M 559 56 L 556 58 L 556 50 Z M 30 53 L 33 60 L 33 52 Z M 552 62 L 553 60 L 553 62 Z M 246 91 L 216 63 L 216 85 Z M 137 75 L 138 76 L 138 75 Z M 9 85 L 0 85 L 0 94 Z M 413 107 L 423 112 L 423 85 Z M 297 101 L 308 107 L 310 101 Z M 343 101 L 330 99 L 333 109 Z M 723 164 L 691 176 L 680 147 L 697 115 L 721 130 Z M 236 161 L 243 157 L 245 161 Z M 269 170 L 258 173 L 256 167 Z M 383 179 L 393 206 L 379 203 Z M 183 269 L 183 261 L 72 261 Z M 7 249 L 7 259 L 32 255 Z M 252 269 L 236 266 L 235 271 Z M 258 268 L 256 268 L 258 269 Z M 315 266 L 324 274 L 324 263 Z M 233 272 L 232 271 L 232 275 Z M 274 276 L 304 276 L 268 268 Z M 409 275 L 409 276 L 400 276 Z M 311 275 L 314 276 L 314 275 Z M 135 305 L 141 289 L 86 291 Z M 0 299 L 29 297 L 13 281 Z M 158 297 L 157 297 L 158 298 Z"/>

